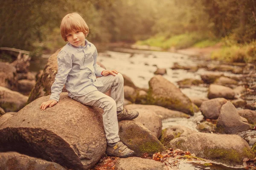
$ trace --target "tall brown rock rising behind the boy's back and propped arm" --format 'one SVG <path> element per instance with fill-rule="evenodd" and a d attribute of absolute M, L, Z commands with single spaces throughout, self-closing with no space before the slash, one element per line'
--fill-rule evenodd
<path fill-rule="evenodd" d="M 47 64 L 44 66 L 44 71 L 41 78 L 38 79 L 35 84 L 35 88 L 30 93 L 28 103 L 41 96 L 51 94 L 51 87 L 54 82 L 55 75 L 58 72 L 57 55 L 60 50 L 61 48 L 49 57 Z M 64 92 L 66 89 L 63 89 L 62 91 Z"/>

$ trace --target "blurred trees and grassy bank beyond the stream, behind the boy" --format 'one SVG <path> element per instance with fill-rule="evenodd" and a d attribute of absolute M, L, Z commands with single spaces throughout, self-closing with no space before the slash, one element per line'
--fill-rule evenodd
<path fill-rule="evenodd" d="M 84 17 L 93 43 L 162 50 L 217 45 L 212 58 L 256 60 L 256 0 L 2 0 L 0 47 L 32 56 L 55 52 L 66 43 L 61 18 L 73 11 Z"/>

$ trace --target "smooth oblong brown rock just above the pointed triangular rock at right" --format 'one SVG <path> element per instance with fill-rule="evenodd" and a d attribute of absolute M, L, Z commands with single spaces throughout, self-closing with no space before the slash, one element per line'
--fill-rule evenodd
<path fill-rule="evenodd" d="M 222 85 L 210 85 L 208 91 L 208 98 L 214 99 L 218 97 L 223 97 L 225 99 L 234 99 L 235 92 L 233 89 Z"/>

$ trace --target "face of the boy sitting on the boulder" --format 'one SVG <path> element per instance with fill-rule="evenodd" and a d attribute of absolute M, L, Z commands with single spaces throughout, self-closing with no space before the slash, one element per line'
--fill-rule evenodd
<path fill-rule="evenodd" d="M 67 34 L 67 41 L 74 46 L 84 46 L 85 45 L 85 36 L 82 31 L 74 30 Z"/>

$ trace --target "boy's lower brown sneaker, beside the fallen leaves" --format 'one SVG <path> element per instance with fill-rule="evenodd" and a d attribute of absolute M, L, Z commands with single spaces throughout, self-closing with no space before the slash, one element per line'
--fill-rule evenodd
<path fill-rule="evenodd" d="M 129 149 L 123 142 L 119 141 L 116 144 L 107 144 L 106 153 L 108 156 L 116 156 L 126 158 L 133 155 L 134 151 Z"/>

